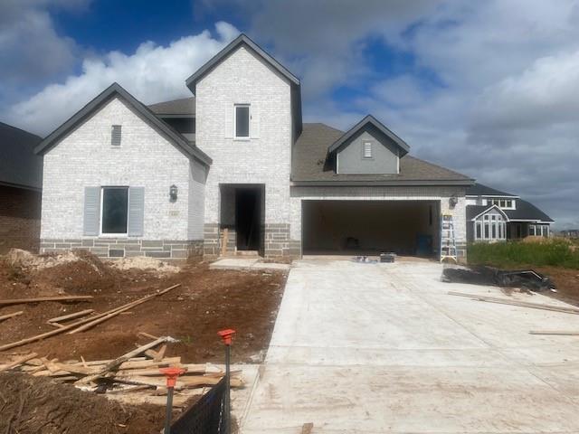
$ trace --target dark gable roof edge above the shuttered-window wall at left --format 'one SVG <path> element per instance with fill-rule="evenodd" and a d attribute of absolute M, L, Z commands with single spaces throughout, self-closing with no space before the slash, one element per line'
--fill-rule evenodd
<path fill-rule="evenodd" d="M 69 134 L 72 129 L 79 126 L 81 122 L 89 118 L 96 110 L 100 109 L 105 103 L 110 99 L 119 96 L 128 102 L 128 104 L 136 109 L 140 115 L 147 119 L 147 121 L 153 126 L 157 127 L 157 130 L 165 134 L 177 147 L 185 152 L 188 156 L 197 158 L 199 161 L 204 163 L 204 165 L 211 165 L 213 160 L 207 156 L 201 149 L 191 144 L 184 136 L 178 133 L 175 129 L 170 127 L 163 122 L 161 119 L 157 118 L 155 113 L 150 109 L 147 109 L 143 103 L 138 99 L 133 97 L 127 90 L 124 90 L 119 83 L 112 83 L 106 90 L 100 92 L 95 99 L 92 99 L 86 106 L 77 111 L 71 118 L 62 124 L 62 126 L 56 128 L 48 137 L 44 138 L 40 145 L 36 146 L 34 152 L 36 154 L 43 155 L 48 152 L 52 146 L 55 146 L 58 140 L 60 140 L 65 135 Z"/>

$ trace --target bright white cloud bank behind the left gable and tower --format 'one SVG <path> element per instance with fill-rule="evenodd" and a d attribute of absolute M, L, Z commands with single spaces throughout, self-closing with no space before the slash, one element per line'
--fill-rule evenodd
<path fill-rule="evenodd" d="M 114 81 L 146 104 L 190 96 L 185 79 L 239 33 L 223 22 L 215 24 L 215 29 L 215 38 L 204 31 L 166 47 L 143 42 L 130 55 L 109 52 L 104 57 L 85 59 L 81 75 L 46 86 L 30 99 L 15 104 L 5 118 L 45 135 Z"/>

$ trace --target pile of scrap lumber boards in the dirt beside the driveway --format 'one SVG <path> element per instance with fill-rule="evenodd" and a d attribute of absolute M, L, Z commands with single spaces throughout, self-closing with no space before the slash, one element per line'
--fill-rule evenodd
<path fill-rule="evenodd" d="M 174 401 L 177 407 L 185 405 L 192 396 L 203 394 L 207 387 L 223 378 L 224 371 L 219 366 L 181 363 L 181 357 L 166 357 L 166 344 L 176 342 L 172 337 L 142 335 L 155 340 L 138 345 L 135 350 L 113 360 L 86 361 L 81 357 L 80 361 L 60 362 L 31 353 L 0 364 L 0 372 L 12 370 L 51 377 L 58 382 L 72 383 L 84 391 L 104 393 L 118 401 L 164 405 L 166 379 L 159 369 L 178 367 L 185 373 L 176 382 Z M 242 387 L 242 384 L 241 372 L 233 372 L 232 387 Z"/>

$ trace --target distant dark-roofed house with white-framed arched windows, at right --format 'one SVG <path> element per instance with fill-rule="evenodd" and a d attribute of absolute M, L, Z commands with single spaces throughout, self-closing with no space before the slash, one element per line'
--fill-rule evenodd
<path fill-rule="evenodd" d="M 531 236 L 548 237 L 553 223 L 545 212 L 515 194 L 483 184 L 467 190 L 469 241 L 507 241 Z"/>

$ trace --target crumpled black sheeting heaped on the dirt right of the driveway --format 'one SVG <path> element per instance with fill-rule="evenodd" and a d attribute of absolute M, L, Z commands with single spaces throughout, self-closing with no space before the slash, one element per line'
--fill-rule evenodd
<path fill-rule="evenodd" d="M 555 288 L 551 278 L 534 269 L 504 270 L 492 267 L 454 266 L 442 269 L 441 279 L 443 282 L 525 288 L 530 291 L 546 291 Z"/>

